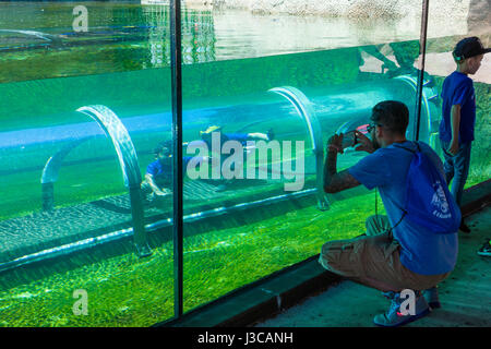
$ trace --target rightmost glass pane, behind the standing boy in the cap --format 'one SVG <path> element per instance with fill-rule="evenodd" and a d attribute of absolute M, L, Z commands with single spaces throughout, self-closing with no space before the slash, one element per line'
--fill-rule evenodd
<path fill-rule="evenodd" d="M 429 33 L 427 43 L 426 71 L 434 81 L 438 93 L 435 98 L 442 103 L 442 86 L 446 76 L 457 69 L 452 51 L 455 45 L 465 37 L 478 36 L 484 47 L 491 46 L 491 11 L 487 0 L 455 1 L 448 7 L 447 1 L 430 1 Z M 435 9 L 438 8 L 438 9 Z M 475 74 L 469 74 L 474 82 L 476 96 L 475 141 L 471 143 L 469 174 L 465 181 L 465 189 L 486 181 L 491 176 L 490 147 L 490 84 L 491 57 L 484 55 L 481 67 Z M 439 137 L 439 125 L 442 108 L 432 121 L 432 146 L 444 160 Z M 452 183 L 453 185 L 453 183 Z"/>

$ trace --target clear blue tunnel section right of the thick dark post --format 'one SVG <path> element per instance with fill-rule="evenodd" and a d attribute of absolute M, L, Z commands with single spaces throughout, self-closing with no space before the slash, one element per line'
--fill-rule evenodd
<path fill-rule="evenodd" d="M 430 82 L 424 83 L 419 132 L 419 140 L 427 143 L 434 142 L 438 131 L 438 106 L 435 104 L 438 94 L 430 85 Z M 268 130 L 273 130 L 273 141 L 279 143 L 280 149 L 284 149 L 285 141 L 290 141 L 294 148 L 295 142 L 302 142 L 303 146 L 300 153 L 291 154 L 292 158 L 302 157 L 304 161 L 304 186 L 302 190 L 318 190 L 318 207 L 324 210 L 328 208 L 328 200 L 325 200 L 322 190 L 323 149 L 326 140 L 336 132 L 355 129 L 366 132 L 373 106 L 388 99 L 399 100 L 408 106 L 410 120 L 407 137 L 415 140 L 416 94 L 417 80 L 409 75 L 315 88 L 277 86 L 267 92 L 243 97 L 242 103 L 238 105 L 227 104 L 224 98 L 223 106 L 199 110 L 184 109 L 184 140 L 189 142 L 199 139 L 201 130 L 215 125 L 221 127 L 221 133 L 231 134 L 231 137 L 236 133 L 264 134 Z M 285 151 L 288 154 L 282 154 L 279 157 L 288 160 L 290 148 L 287 147 Z M 350 166 L 362 155 L 355 152 L 354 148 L 348 148 L 346 154 L 339 158 L 339 166 Z M 221 155 L 221 157 L 227 156 Z M 244 153 L 244 157 L 247 156 L 248 154 Z M 247 159 L 243 161 L 246 163 Z M 278 164 L 277 160 L 270 158 L 270 161 L 273 163 L 268 167 L 271 178 L 278 172 L 289 174 L 284 172 L 283 160 Z M 290 168 L 289 164 L 286 168 Z M 264 168 L 259 168 L 259 171 L 262 170 Z M 243 177 L 246 177 L 246 172 Z M 276 179 L 278 178 L 276 177 Z M 280 180 L 285 180 L 285 178 L 280 178 Z M 254 185 L 254 182 L 251 182 L 250 185 Z"/>

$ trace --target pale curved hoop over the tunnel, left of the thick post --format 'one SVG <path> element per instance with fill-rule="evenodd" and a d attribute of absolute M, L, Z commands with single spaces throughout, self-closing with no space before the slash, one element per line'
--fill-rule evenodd
<path fill-rule="evenodd" d="M 140 172 L 139 159 L 133 142 L 128 130 L 116 113 L 106 106 L 86 106 L 76 109 L 93 118 L 103 131 L 111 139 L 119 166 L 121 167 L 124 184 L 130 191 L 131 215 L 133 218 L 133 241 L 140 257 L 148 256 L 152 250 L 148 246 L 144 212 L 141 193 L 142 173 Z"/>

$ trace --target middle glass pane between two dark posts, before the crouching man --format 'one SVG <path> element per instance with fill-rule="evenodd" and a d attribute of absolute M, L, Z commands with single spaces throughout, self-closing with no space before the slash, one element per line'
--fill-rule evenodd
<path fill-rule="evenodd" d="M 322 202 L 312 151 L 336 131 L 363 132 L 371 108 L 385 99 L 406 103 L 408 137 L 415 136 L 422 8 L 416 2 L 375 9 L 350 1 L 324 13 L 309 9 L 308 17 L 288 5 L 183 9 L 195 26 L 214 28 L 201 40 L 213 43 L 214 55 L 185 60 L 182 74 L 184 149 L 192 158 L 184 179 L 184 311 L 314 255 L 327 240 L 364 232 L 374 192 L 359 186 Z M 262 168 L 263 140 L 271 153 Z M 237 142 L 220 148 L 227 141 Z M 348 149 L 338 170 L 362 156 Z M 321 154 L 321 170 L 323 160 Z M 380 201 L 376 207 L 383 213 Z"/>

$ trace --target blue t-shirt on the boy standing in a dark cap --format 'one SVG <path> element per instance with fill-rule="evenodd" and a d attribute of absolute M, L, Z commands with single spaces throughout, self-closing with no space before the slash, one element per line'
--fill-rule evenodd
<path fill-rule="evenodd" d="M 474 141 L 476 123 L 476 94 L 470 77 L 460 72 L 453 72 L 443 82 L 442 87 L 442 121 L 440 122 L 440 139 L 452 141 L 452 106 L 460 105 L 460 125 L 458 143 Z"/>

